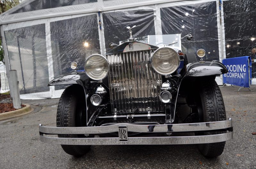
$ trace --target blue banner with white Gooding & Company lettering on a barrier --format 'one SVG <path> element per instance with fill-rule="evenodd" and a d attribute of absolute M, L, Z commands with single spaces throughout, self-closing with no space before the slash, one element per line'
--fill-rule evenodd
<path fill-rule="evenodd" d="M 252 66 L 250 56 L 223 59 L 222 63 L 228 69 L 228 73 L 223 74 L 223 83 L 249 88 L 248 59 L 249 65 Z M 252 67 L 250 67 L 250 78 L 252 78 Z"/>

